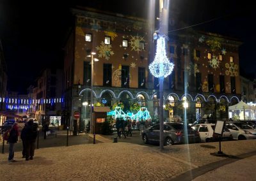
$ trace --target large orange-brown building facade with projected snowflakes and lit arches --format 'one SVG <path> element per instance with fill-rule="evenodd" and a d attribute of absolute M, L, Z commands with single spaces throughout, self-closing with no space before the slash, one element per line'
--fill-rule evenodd
<path fill-rule="evenodd" d="M 66 124 L 76 111 L 81 113 L 80 120 L 90 118 L 90 106 L 84 108 L 85 102 L 110 108 L 122 103 L 124 114 L 133 112 L 132 106 L 138 103 L 157 119 L 159 84 L 148 70 L 156 47 L 156 41 L 152 41 L 154 29 L 139 18 L 89 10 L 73 13 L 76 23 L 65 46 L 63 70 Z M 164 118 L 184 120 L 184 114 L 190 122 L 205 115 L 215 120 L 227 118 L 227 106 L 241 99 L 241 43 L 193 30 L 168 36 L 166 52 L 175 66 L 164 78 Z M 93 63 L 92 101 L 91 52 L 99 59 Z M 185 102 L 188 108 L 184 108 Z"/>

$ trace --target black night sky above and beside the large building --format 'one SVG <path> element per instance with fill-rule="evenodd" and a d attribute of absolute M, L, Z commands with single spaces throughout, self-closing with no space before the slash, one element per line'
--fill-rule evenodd
<path fill-rule="evenodd" d="M 25 92 L 44 68 L 63 66 L 63 42 L 75 4 L 129 15 L 147 15 L 149 0 L 0 1 L 0 39 L 8 65 L 8 89 Z M 158 1 L 158 0 L 157 0 Z M 172 1 L 172 0 L 171 0 Z M 177 1 L 177 0 L 175 0 Z M 65 2 L 65 1 L 63 1 Z M 243 41 L 240 69 L 255 76 L 255 17 L 253 1 L 179 0 L 177 9 L 189 25 L 218 18 L 196 29 L 232 36 Z"/>

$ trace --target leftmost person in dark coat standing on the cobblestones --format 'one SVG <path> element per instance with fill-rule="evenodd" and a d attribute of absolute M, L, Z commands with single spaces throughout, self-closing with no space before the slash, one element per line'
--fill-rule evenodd
<path fill-rule="evenodd" d="M 8 161 L 12 162 L 15 161 L 14 159 L 14 145 L 18 141 L 19 131 L 18 131 L 18 124 L 15 122 L 10 130 L 10 136 L 8 138 L 9 143 L 9 157 Z"/>

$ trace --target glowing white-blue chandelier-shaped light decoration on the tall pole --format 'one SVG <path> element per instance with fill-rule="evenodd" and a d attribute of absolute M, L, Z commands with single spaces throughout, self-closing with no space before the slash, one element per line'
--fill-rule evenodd
<path fill-rule="evenodd" d="M 159 36 L 156 45 L 156 57 L 149 65 L 150 73 L 157 78 L 166 77 L 172 73 L 174 64 L 166 57 L 165 40 L 163 36 Z"/>

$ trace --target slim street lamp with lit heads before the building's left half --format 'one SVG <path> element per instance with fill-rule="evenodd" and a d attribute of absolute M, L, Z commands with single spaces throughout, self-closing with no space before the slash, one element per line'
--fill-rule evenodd
<path fill-rule="evenodd" d="M 95 52 L 91 52 L 91 55 L 88 55 L 87 57 L 91 57 L 91 65 L 92 65 L 92 71 L 91 71 L 91 133 L 93 133 L 93 144 L 95 144 L 95 123 L 93 121 L 92 112 L 93 112 L 93 61 L 97 62 L 99 59 L 93 58 L 93 55 L 96 55 Z"/>

